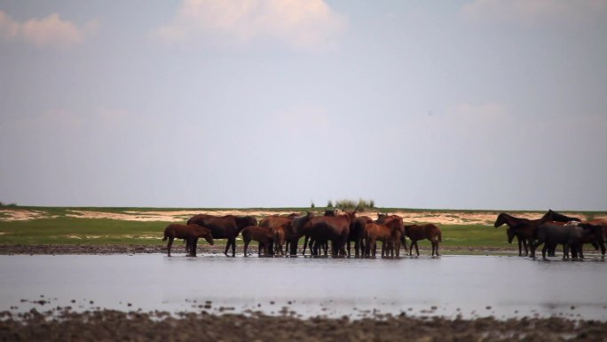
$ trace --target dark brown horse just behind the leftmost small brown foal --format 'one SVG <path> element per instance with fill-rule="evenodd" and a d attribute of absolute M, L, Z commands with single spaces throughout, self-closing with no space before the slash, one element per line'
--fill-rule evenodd
<path fill-rule="evenodd" d="M 257 219 L 252 216 L 212 216 L 198 214 L 187 220 L 187 224 L 207 227 L 211 230 L 213 238 L 227 239 L 224 254 L 228 255 L 228 249 L 232 247 L 232 256 L 236 256 L 236 236 L 244 227 L 257 226 Z"/>

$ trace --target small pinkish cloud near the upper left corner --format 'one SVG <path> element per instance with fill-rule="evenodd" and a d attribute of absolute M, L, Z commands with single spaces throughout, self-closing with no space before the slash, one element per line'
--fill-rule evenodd
<path fill-rule="evenodd" d="M 0 11 L 0 37 L 8 41 L 27 42 L 39 48 L 66 48 L 82 44 L 98 28 L 98 20 L 90 20 L 78 28 L 71 21 L 61 20 L 58 13 L 42 19 L 18 21 Z"/>

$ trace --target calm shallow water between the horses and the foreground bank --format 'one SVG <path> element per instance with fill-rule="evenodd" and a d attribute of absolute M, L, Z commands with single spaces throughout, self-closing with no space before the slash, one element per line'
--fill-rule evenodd
<path fill-rule="evenodd" d="M 520 257 L 0 256 L 0 311 L 118 310 L 357 318 L 370 314 L 607 320 L 607 264 Z"/>

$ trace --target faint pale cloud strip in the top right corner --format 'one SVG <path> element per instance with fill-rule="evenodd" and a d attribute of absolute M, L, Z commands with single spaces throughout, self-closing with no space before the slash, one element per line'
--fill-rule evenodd
<path fill-rule="evenodd" d="M 473 21 L 532 24 L 541 21 L 585 21 L 607 14 L 601 0 L 475 0 L 461 8 L 461 15 Z"/>

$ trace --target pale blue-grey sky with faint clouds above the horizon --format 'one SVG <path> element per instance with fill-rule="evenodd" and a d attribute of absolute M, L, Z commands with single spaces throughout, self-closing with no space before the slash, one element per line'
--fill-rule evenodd
<path fill-rule="evenodd" d="M 0 201 L 607 210 L 605 0 L 0 0 Z"/>

